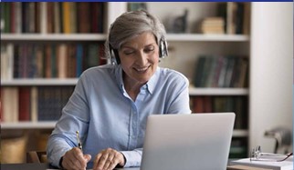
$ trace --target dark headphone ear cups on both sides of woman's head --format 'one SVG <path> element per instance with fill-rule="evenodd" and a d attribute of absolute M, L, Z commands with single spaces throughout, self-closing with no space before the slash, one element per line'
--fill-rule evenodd
<path fill-rule="evenodd" d="M 165 56 L 168 56 L 168 50 L 167 50 L 167 42 L 164 37 L 161 38 L 159 41 L 159 57 L 164 58 Z M 112 65 L 120 65 L 121 59 L 119 56 L 119 51 L 117 49 L 113 49 L 112 46 L 109 44 L 109 50 L 110 50 L 110 62 Z"/>

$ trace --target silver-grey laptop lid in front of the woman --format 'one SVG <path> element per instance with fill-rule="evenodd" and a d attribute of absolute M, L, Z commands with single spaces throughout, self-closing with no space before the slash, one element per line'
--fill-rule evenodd
<path fill-rule="evenodd" d="M 234 113 L 150 115 L 141 170 L 225 170 L 234 121 Z"/>

